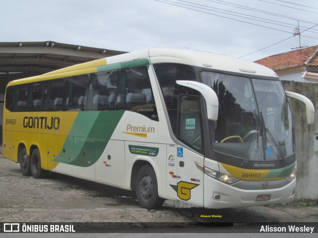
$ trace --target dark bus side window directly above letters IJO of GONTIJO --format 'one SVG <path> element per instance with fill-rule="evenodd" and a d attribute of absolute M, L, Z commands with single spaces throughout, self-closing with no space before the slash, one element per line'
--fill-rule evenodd
<path fill-rule="evenodd" d="M 45 88 L 44 111 L 62 111 L 64 85 L 64 79 L 47 81 Z"/>

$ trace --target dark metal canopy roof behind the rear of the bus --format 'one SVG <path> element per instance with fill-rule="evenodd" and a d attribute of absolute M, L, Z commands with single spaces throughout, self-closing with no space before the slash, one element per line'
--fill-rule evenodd
<path fill-rule="evenodd" d="M 53 41 L 0 42 L 0 93 L 14 79 L 124 53 Z"/>

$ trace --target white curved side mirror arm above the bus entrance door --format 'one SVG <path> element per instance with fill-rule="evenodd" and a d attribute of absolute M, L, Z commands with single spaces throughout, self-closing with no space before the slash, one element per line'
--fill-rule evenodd
<path fill-rule="evenodd" d="M 208 119 L 216 121 L 219 114 L 219 100 L 216 93 L 208 85 L 195 81 L 177 80 L 177 84 L 199 91 L 206 102 Z"/>

